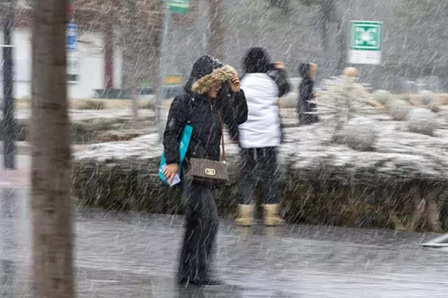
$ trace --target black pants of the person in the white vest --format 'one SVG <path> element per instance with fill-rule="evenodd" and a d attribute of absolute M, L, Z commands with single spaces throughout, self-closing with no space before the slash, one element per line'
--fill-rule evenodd
<path fill-rule="evenodd" d="M 255 178 L 261 180 L 265 204 L 278 204 L 277 167 L 276 147 L 241 149 L 241 199 L 239 204 L 253 202 Z"/>

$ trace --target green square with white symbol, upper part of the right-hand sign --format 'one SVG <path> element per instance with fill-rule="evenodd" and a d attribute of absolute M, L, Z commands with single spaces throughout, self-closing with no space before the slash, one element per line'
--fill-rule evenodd
<path fill-rule="evenodd" d="M 351 50 L 381 51 L 382 22 L 351 22 Z"/>

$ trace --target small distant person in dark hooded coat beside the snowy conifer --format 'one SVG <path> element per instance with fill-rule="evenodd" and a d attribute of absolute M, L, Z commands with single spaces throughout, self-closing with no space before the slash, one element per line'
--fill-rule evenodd
<path fill-rule="evenodd" d="M 314 99 L 314 75 L 317 65 L 314 63 L 302 63 L 299 66 L 299 73 L 302 76 L 302 82 L 299 86 L 299 99 L 297 101 L 297 113 L 299 115 L 300 125 L 311 125 L 319 121 L 316 114 L 309 112 L 316 111 L 316 104 L 310 102 Z"/>

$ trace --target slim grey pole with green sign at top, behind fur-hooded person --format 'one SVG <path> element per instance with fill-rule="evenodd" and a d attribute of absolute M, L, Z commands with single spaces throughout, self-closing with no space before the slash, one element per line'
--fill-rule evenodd
<path fill-rule="evenodd" d="M 159 141 L 162 142 L 163 133 L 165 132 L 165 115 L 162 119 L 163 101 L 165 100 L 165 73 L 167 72 L 167 57 L 169 55 L 169 22 L 171 21 L 171 13 L 186 14 L 190 11 L 190 0 L 165 0 L 166 7 L 163 15 L 163 36 L 162 36 L 162 49 L 160 54 L 160 86 L 157 97 L 155 99 L 155 119 L 159 127 Z"/>

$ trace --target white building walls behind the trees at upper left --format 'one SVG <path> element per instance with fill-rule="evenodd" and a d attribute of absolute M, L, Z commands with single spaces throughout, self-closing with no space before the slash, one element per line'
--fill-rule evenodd
<path fill-rule="evenodd" d="M 15 28 L 13 34 L 14 90 L 16 99 L 31 98 L 31 29 Z M 3 45 L 3 34 L 0 34 Z M 104 34 L 102 32 L 80 32 L 77 51 L 73 59 L 67 59 L 71 73 L 76 72 L 77 81 L 68 83 L 68 97 L 86 99 L 94 96 L 94 89 L 104 88 Z M 3 52 L 0 51 L 0 64 L 3 64 Z M 69 58 L 69 57 L 68 57 Z M 123 52 L 114 48 L 113 86 L 122 86 Z M 0 98 L 3 97 L 3 73 L 0 69 Z"/>

